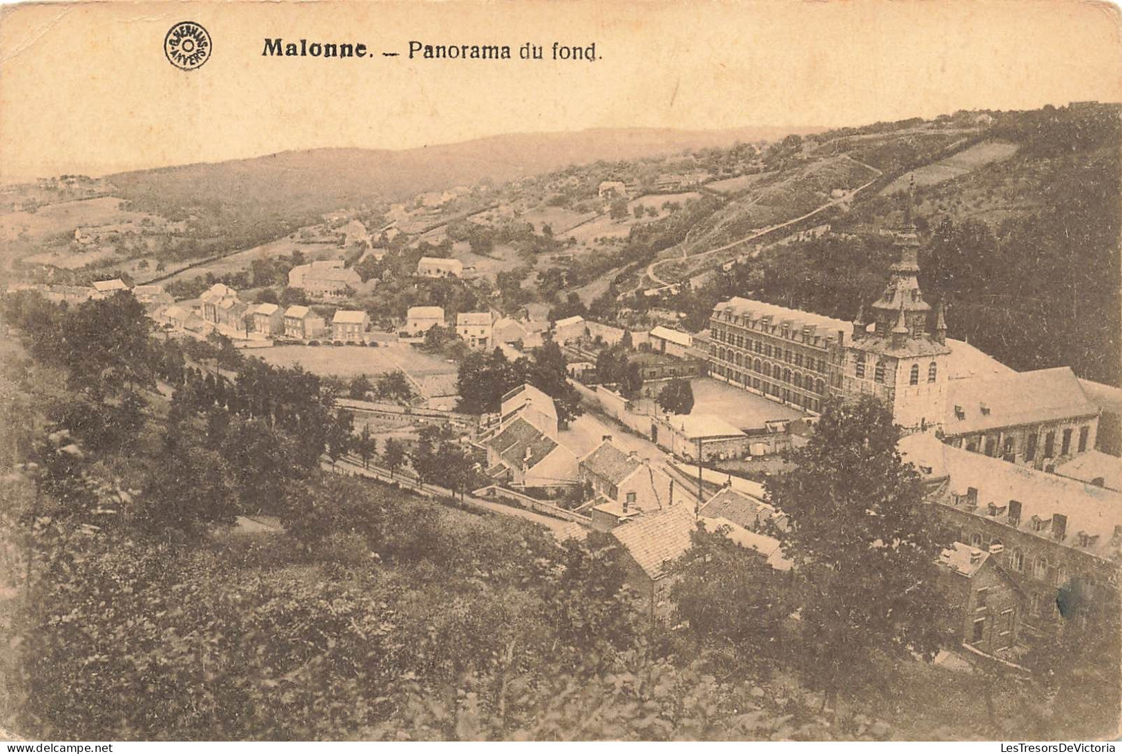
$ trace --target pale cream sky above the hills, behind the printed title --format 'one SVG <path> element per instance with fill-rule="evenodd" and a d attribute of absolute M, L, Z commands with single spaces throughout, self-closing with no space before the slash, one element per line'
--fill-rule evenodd
<path fill-rule="evenodd" d="M 511 132 L 859 126 L 1122 100 L 1119 11 L 1078 0 L 88 2 L 0 12 L 0 182 Z M 182 20 L 213 40 L 195 71 L 164 55 Z M 266 37 L 365 43 L 375 54 L 263 56 Z M 411 61 L 410 40 L 505 44 L 515 59 Z M 546 59 L 517 59 L 527 42 Z M 595 43 L 599 59 L 549 59 L 553 42 Z"/>

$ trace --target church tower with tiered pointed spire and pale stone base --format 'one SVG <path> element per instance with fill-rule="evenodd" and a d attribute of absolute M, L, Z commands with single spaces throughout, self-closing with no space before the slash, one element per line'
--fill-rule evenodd
<path fill-rule="evenodd" d="M 892 408 L 905 431 L 937 429 L 947 404 L 946 321 L 934 313 L 919 287 L 919 233 L 912 222 L 914 180 L 904 194 L 903 222 L 895 232 L 899 255 L 889 282 L 871 306 L 872 331 L 858 314 L 843 364 L 843 393 L 873 394 Z"/>

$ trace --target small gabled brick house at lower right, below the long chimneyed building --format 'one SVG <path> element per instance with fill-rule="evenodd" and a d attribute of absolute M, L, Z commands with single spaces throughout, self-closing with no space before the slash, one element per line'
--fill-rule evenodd
<path fill-rule="evenodd" d="M 939 557 L 939 590 L 950 606 L 946 631 L 964 649 L 1005 658 L 1020 634 L 1024 594 L 990 551 L 955 542 Z"/>

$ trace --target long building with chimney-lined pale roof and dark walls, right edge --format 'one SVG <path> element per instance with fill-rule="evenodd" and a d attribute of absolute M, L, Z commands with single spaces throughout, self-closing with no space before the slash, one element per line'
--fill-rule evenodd
<path fill-rule="evenodd" d="M 1058 629 L 1061 590 L 1088 604 L 1118 599 L 1122 493 L 955 448 L 932 433 L 902 438 L 900 453 L 919 469 L 955 539 L 988 551 L 1026 594 L 1026 636 Z"/>

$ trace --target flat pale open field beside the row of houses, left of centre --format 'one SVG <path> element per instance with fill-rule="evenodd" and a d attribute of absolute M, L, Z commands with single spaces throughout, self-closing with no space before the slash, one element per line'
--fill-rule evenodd
<path fill-rule="evenodd" d="M 275 346 L 255 349 L 252 353 L 278 367 L 295 367 L 298 364 L 316 375 L 334 375 L 343 378 L 356 375 L 380 375 L 401 369 L 420 381 L 427 377 L 457 373 L 454 364 L 423 353 L 404 343 L 390 343 L 379 348 Z"/>

